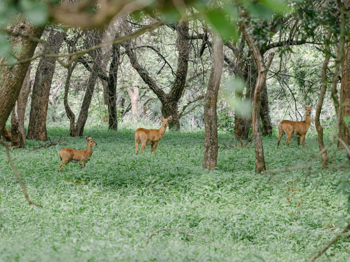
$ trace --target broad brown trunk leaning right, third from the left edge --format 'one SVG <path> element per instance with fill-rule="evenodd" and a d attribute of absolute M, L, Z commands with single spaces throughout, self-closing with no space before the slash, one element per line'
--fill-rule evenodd
<path fill-rule="evenodd" d="M 50 30 L 47 44 L 55 53 L 59 52 L 65 32 Z M 56 60 L 51 57 L 41 57 L 36 69 L 33 91 L 31 95 L 28 139 L 47 140 L 46 115 L 49 105 L 52 77 L 55 72 Z"/>

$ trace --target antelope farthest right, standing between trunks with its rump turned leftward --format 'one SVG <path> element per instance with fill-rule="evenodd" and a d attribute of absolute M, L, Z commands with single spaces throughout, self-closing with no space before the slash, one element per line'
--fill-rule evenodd
<path fill-rule="evenodd" d="M 281 137 L 283 134 L 287 135 L 286 145 L 289 147 L 289 141 L 292 139 L 292 137 L 296 137 L 298 140 L 298 146 L 300 145 L 300 137 L 303 144 L 303 148 L 305 147 L 305 135 L 310 127 L 311 124 L 311 109 L 312 105 L 310 107 L 306 107 L 303 105 L 305 112 L 305 120 L 304 121 L 289 121 L 289 120 L 283 120 L 278 125 L 278 142 L 277 142 L 277 148 L 280 144 Z"/>

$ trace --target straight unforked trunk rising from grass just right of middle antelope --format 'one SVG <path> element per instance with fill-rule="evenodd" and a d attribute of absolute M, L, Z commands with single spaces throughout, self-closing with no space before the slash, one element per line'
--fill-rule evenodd
<path fill-rule="evenodd" d="M 204 102 L 204 158 L 203 168 L 216 168 L 218 155 L 216 104 L 224 63 L 223 42 L 221 37 L 212 34 L 211 72 Z"/>

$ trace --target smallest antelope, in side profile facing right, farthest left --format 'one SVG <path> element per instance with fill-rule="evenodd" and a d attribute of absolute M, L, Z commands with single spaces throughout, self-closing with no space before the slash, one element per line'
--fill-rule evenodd
<path fill-rule="evenodd" d="M 66 147 L 61 149 L 58 152 L 59 158 L 61 158 L 62 160 L 62 163 L 61 163 L 61 166 L 59 166 L 58 172 L 61 172 L 63 166 L 68 164 L 69 162 L 80 163 L 82 168 L 85 167 L 86 160 L 89 159 L 92 155 L 91 146 L 97 146 L 95 141 L 93 141 L 93 139 L 90 136 L 85 136 L 85 139 L 87 141 L 86 150 L 75 150 L 75 149 Z"/>

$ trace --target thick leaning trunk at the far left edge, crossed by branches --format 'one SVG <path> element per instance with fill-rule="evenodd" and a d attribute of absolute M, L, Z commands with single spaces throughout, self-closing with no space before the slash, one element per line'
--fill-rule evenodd
<path fill-rule="evenodd" d="M 34 27 L 26 20 L 18 22 L 14 28 L 14 32 L 29 34 L 36 38 L 40 38 L 43 32 L 42 27 Z M 37 42 L 31 41 L 27 37 L 10 37 L 10 52 L 19 60 L 29 59 L 33 56 Z M 6 63 L 5 59 L 1 59 Z M 26 77 L 30 61 L 20 63 L 14 66 L 2 66 L 0 80 L 0 130 L 3 129 L 8 116 L 13 109 L 18 95 L 22 88 L 23 80 Z"/>

